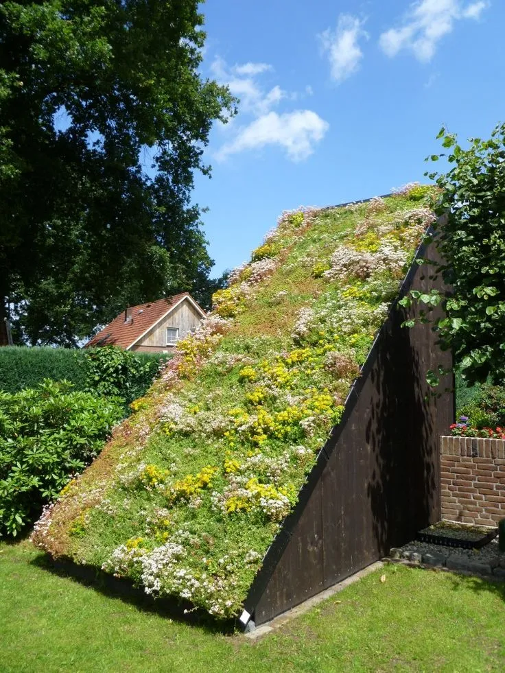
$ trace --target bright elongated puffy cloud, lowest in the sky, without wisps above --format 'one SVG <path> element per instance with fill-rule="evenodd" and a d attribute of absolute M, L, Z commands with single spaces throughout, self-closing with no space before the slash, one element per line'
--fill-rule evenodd
<path fill-rule="evenodd" d="M 327 121 L 312 110 L 294 110 L 282 115 L 270 112 L 240 129 L 216 156 L 223 160 L 244 150 L 279 145 L 292 161 L 302 161 L 314 152 L 314 145 L 322 140 L 328 128 Z"/>

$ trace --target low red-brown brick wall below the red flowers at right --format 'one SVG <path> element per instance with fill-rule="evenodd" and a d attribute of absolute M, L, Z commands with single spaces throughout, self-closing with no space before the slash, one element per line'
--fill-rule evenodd
<path fill-rule="evenodd" d="M 441 437 L 443 519 L 493 526 L 505 518 L 505 440 Z"/>

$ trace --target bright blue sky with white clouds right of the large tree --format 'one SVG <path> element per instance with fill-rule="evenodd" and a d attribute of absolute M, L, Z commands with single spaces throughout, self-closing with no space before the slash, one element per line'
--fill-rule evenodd
<path fill-rule="evenodd" d="M 202 74 L 239 115 L 211 133 L 193 198 L 213 275 L 250 256 L 283 210 L 425 181 L 445 124 L 505 119 L 503 0 L 208 0 Z"/>

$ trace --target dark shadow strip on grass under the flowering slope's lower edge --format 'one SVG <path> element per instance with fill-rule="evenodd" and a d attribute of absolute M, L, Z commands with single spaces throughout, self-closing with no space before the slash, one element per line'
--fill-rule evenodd
<path fill-rule="evenodd" d="M 75 565 L 68 560 L 54 560 L 49 554 L 40 553 L 30 561 L 30 565 L 49 571 L 58 577 L 78 582 L 106 596 L 120 598 L 134 605 L 139 612 L 150 613 L 173 619 L 181 624 L 198 626 L 209 633 L 231 635 L 237 630 L 235 619 L 218 620 L 207 611 L 195 608 L 189 601 L 175 598 L 154 598 L 128 578 L 116 578 L 91 566 Z"/>

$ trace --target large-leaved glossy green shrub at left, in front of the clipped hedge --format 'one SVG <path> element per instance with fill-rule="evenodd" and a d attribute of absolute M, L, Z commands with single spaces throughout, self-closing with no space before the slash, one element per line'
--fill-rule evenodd
<path fill-rule="evenodd" d="M 15 536 L 102 450 L 121 406 L 49 379 L 0 392 L 0 535 Z"/>

